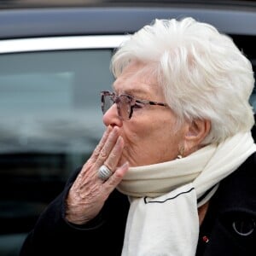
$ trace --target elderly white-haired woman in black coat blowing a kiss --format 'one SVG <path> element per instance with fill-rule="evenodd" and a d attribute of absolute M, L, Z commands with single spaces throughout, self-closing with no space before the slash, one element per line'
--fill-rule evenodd
<path fill-rule="evenodd" d="M 102 140 L 20 255 L 254 255 L 251 63 L 185 18 L 143 27 L 112 67 Z"/>

